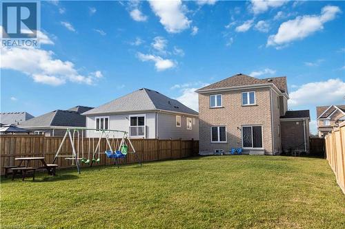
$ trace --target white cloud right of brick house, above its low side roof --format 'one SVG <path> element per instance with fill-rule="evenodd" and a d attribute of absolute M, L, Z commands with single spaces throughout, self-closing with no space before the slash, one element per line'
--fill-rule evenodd
<path fill-rule="evenodd" d="M 296 91 L 290 92 L 290 107 L 309 105 L 342 104 L 345 96 L 345 82 L 339 78 L 306 83 Z"/>

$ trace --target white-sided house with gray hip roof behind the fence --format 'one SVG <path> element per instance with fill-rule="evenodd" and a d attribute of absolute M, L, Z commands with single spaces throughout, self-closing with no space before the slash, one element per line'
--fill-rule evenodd
<path fill-rule="evenodd" d="M 90 129 L 128 131 L 130 138 L 199 139 L 197 111 L 158 91 L 139 89 L 83 113 Z M 88 131 L 89 138 L 99 132 Z M 110 136 L 121 138 L 121 133 Z"/>

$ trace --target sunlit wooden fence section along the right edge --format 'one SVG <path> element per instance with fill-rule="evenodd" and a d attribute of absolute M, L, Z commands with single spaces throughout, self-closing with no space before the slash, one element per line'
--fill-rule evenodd
<path fill-rule="evenodd" d="M 326 156 L 345 194 L 345 122 L 326 135 Z"/>

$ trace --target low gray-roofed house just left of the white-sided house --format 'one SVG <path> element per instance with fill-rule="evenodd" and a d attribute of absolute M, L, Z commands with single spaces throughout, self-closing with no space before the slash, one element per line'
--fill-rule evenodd
<path fill-rule="evenodd" d="M 22 122 L 19 127 L 35 134 L 46 136 L 63 136 L 67 127 L 86 127 L 86 117 L 81 113 L 93 107 L 77 106 L 68 110 L 56 110 L 37 116 L 26 122 Z"/>

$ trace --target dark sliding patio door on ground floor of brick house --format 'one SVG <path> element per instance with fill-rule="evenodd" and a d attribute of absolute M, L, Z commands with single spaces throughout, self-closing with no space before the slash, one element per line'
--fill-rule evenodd
<path fill-rule="evenodd" d="M 244 148 L 262 148 L 262 126 L 242 127 L 242 146 Z"/>

